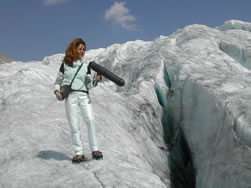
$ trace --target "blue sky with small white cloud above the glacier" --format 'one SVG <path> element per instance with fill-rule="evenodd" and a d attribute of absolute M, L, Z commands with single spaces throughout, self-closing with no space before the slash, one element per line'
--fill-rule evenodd
<path fill-rule="evenodd" d="M 250 0 L 0 0 L 0 53 L 41 61 L 75 38 L 87 50 L 153 41 L 191 24 L 251 22 Z"/>

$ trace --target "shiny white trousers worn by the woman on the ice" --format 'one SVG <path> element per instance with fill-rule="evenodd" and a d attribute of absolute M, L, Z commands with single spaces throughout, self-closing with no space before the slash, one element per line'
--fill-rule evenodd
<path fill-rule="evenodd" d="M 83 155 L 84 148 L 80 133 L 79 115 L 82 116 L 88 129 L 88 141 L 91 151 L 98 151 L 96 126 L 89 95 L 83 92 L 72 92 L 65 100 L 65 111 L 70 125 L 72 145 L 76 155 Z"/>

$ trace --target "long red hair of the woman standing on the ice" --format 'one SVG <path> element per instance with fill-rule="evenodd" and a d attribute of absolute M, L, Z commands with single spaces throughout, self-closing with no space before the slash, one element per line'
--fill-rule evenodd
<path fill-rule="evenodd" d="M 78 60 L 77 47 L 83 44 L 86 47 L 85 41 L 81 38 L 74 39 L 65 50 L 64 63 L 72 67 L 73 62 Z"/>

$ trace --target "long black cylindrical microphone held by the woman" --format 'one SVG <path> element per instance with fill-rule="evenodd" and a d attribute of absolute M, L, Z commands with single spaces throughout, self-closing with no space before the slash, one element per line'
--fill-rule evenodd
<path fill-rule="evenodd" d="M 123 80 L 122 78 L 120 78 L 117 75 L 113 74 L 112 72 L 110 72 L 106 68 L 102 67 L 101 65 L 95 63 L 94 61 L 91 61 L 89 63 L 89 67 L 92 70 L 96 71 L 98 74 L 103 75 L 107 79 L 111 80 L 115 84 L 117 84 L 119 86 L 124 86 L 125 85 L 125 80 Z"/>

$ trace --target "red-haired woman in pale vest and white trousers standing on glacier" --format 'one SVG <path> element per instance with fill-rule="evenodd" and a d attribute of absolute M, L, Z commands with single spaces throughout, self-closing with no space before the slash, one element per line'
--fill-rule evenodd
<path fill-rule="evenodd" d="M 60 94 L 60 86 L 69 85 L 79 66 L 83 64 L 72 83 L 73 92 L 65 99 L 66 117 L 71 128 L 72 144 L 75 151 L 75 156 L 72 159 L 73 163 L 85 161 L 78 120 L 79 112 L 88 128 L 88 141 L 93 158 L 103 158 L 102 152 L 100 152 L 98 148 L 94 114 L 88 95 L 88 90 L 95 87 L 97 82 L 102 78 L 100 75 L 97 75 L 96 79 L 93 82 L 91 81 L 91 72 L 88 68 L 88 63 L 84 62 L 82 59 L 85 50 L 86 44 L 81 38 L 73 40 L 68 45 L 55 82 L 56 97 L 58 100 L 63 100 Z"/>

